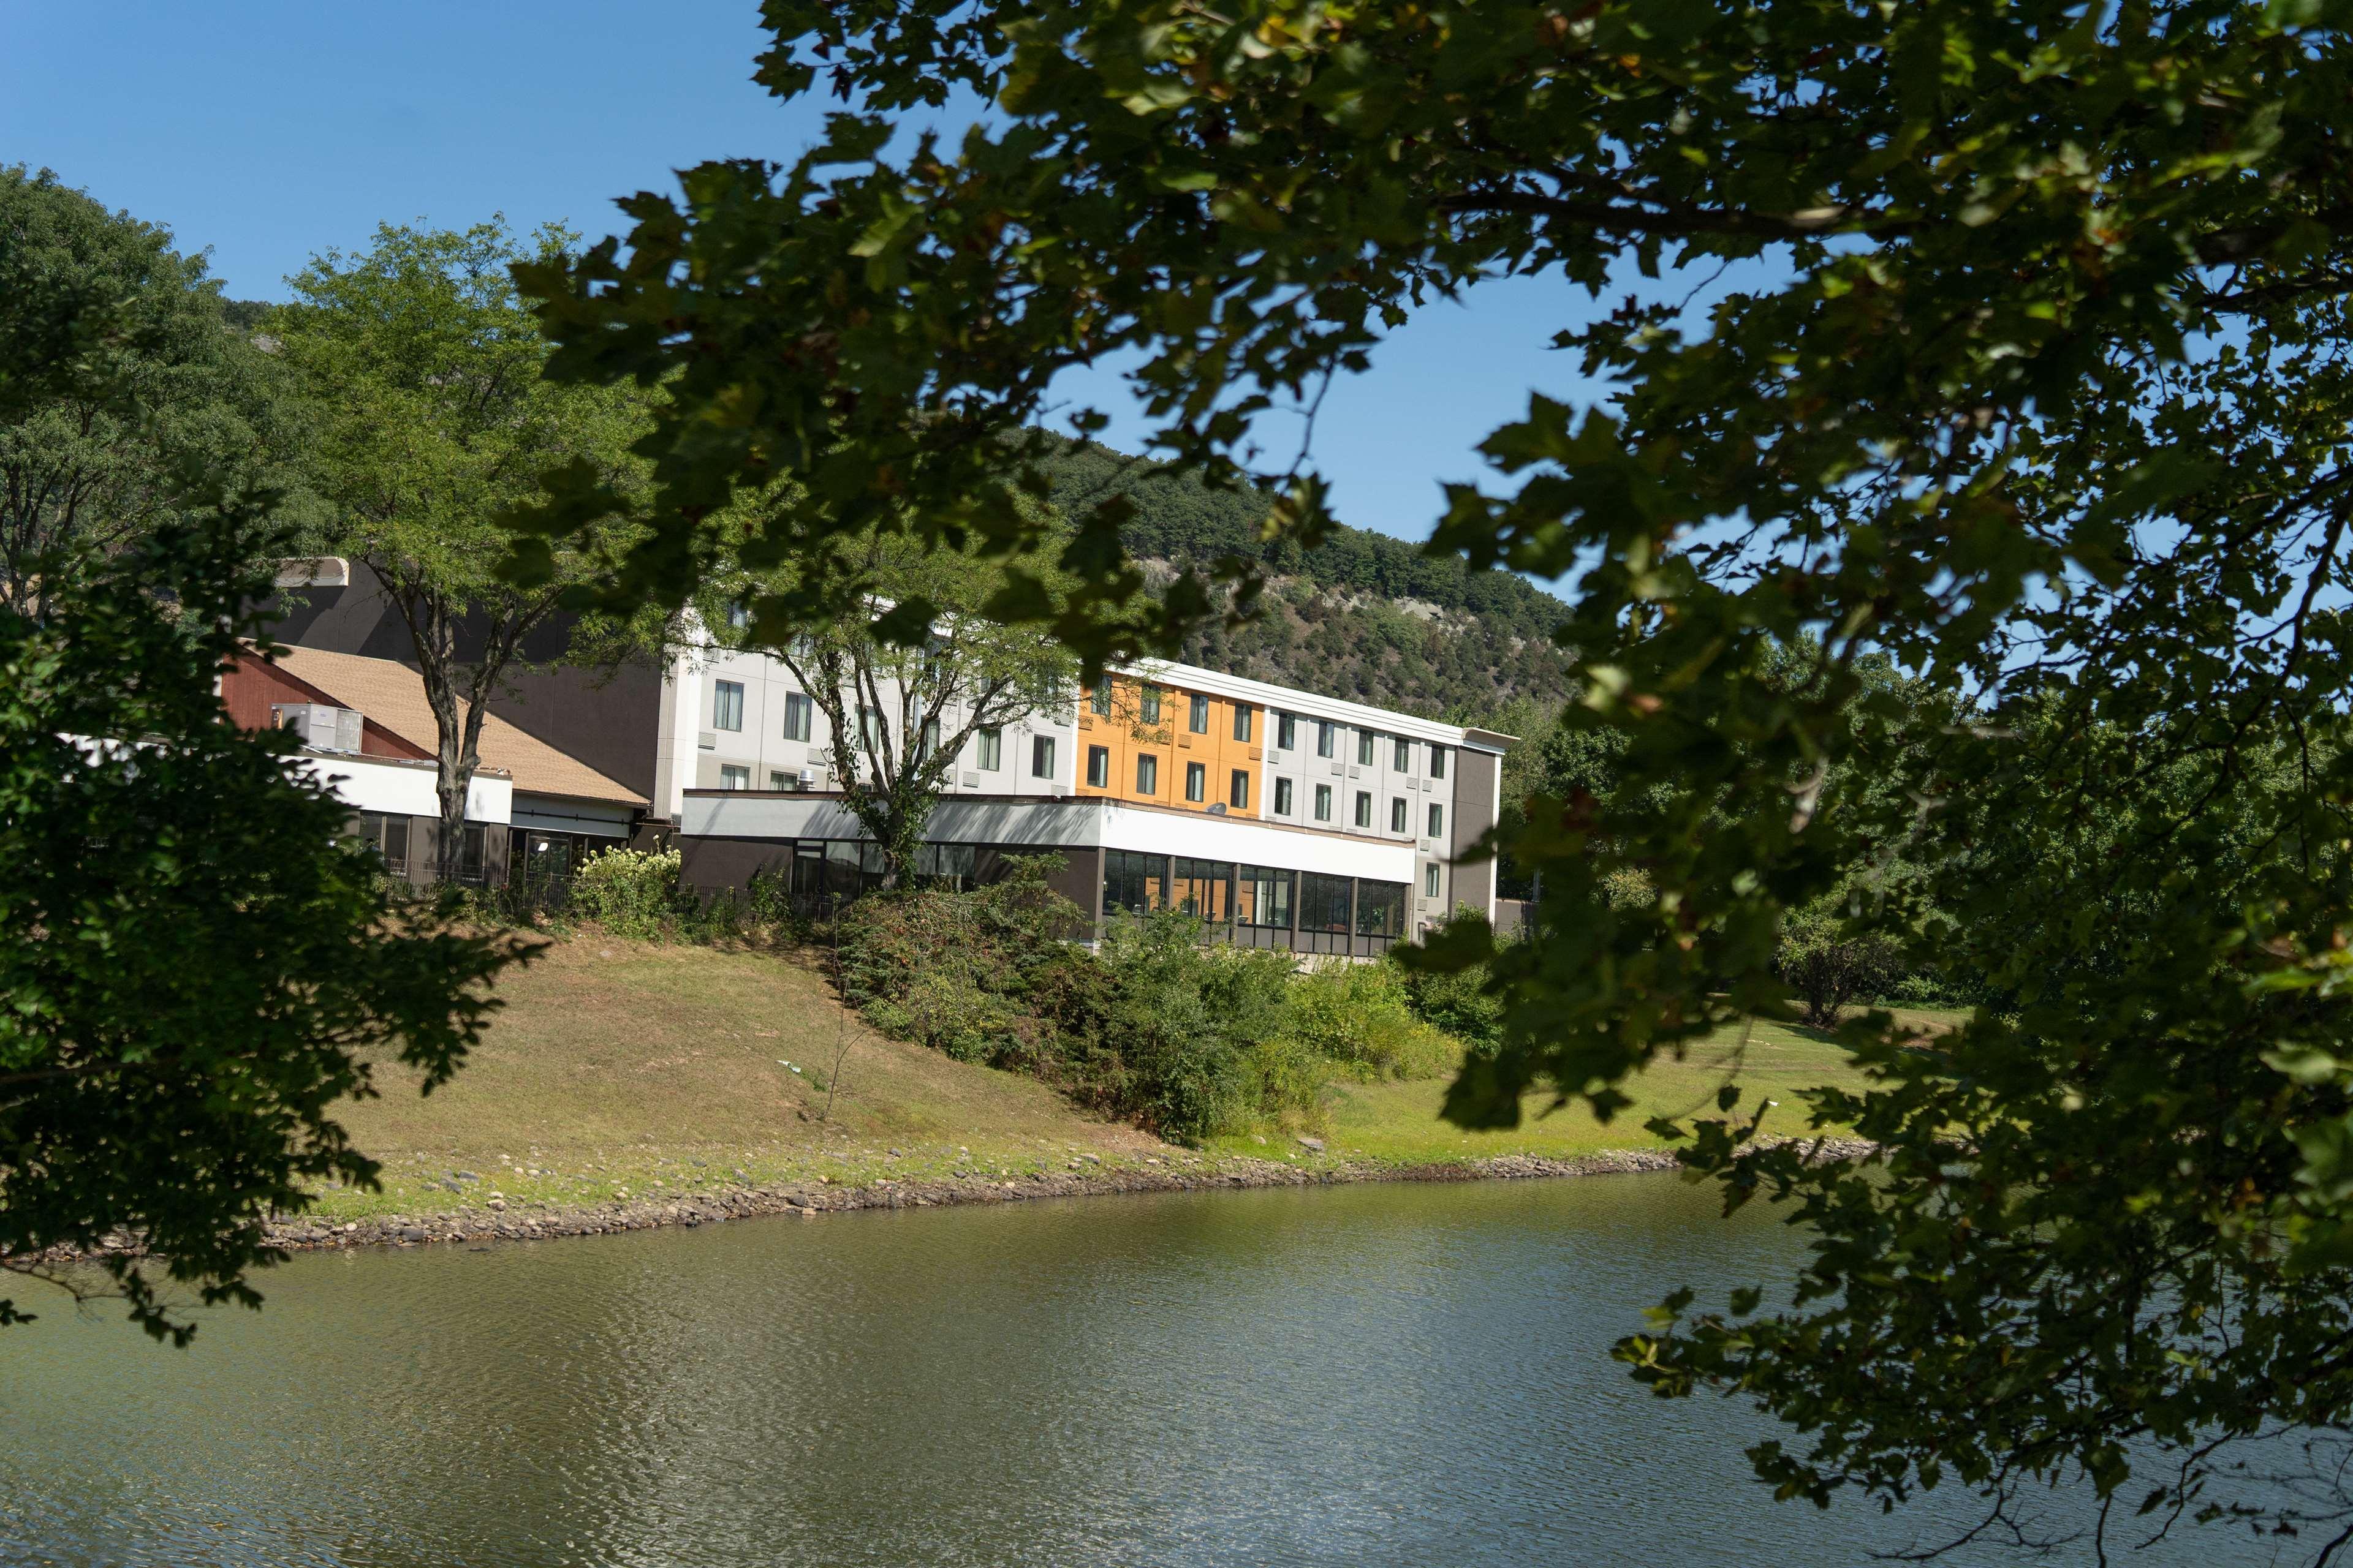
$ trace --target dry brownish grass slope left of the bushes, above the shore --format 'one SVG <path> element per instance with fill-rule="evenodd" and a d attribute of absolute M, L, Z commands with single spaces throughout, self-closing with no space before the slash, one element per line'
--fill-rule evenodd
<path fill-rule="evenodd" d="M 1129 1126 L 1071 1112 L 1033 1079 L 866 1030 L 812 964 L 598 936 L 551 945 L 501 985 L 506 1006 L 452 1084 L 419 1095 L 395 1067 L 379 1079 L 384 1098 L 344 1110 L 353 1140 L 386 1164 L 386 1192 L 334 1192 L 325 1208 L 454 1208 L 492 1190 L 518 1204 L 593 1201 L 652 1182 L 715 1185 L 734 1171 L 854 1180 L 1059 1166 L 1080 1150 L 1169 1154 Z M 456 1171 L 485 1180 L 438 1185 Z"/>

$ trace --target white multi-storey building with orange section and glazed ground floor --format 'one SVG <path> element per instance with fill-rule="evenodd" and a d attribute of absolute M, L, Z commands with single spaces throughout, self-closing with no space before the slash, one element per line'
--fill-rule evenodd
<path fill-rule="evenodd" d="M 896 701 L 896 693 L 885 693 Z M 958 719 L 944 724 L 953 733 Z M 802 898 L 880 882 L 842 806 L 826 715 L 784 661 L 673 661 L 654 813 L 704 891 L 786 879 Z M 965 741 L 925 870 L 991 877 L 1047 853 L 1096 924 L 1179 907 L 1226 940 L 1369 957 L 1457 907 L 1494 914 L 1475 846 L 1511 736 L 1179 663 L 1115 670 Z"/>

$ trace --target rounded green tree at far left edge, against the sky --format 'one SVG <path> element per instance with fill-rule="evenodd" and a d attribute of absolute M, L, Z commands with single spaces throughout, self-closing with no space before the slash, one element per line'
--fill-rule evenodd
<path fill-rule="evenodd" d="M 129 550 L 179 520 L 186 473 L 285 477 L 280 454 L 299 440 L 280 376 L 167 230 L 47 169 L 0 167 L 0 294 L 24 355 L 35 334 L 99 320 L 85 306 L 106 322 L 101 341 L 73 346 L 104 374 L 54 381 L 0 423 L 0 609 L 38 614 L 38 562 Z"/>

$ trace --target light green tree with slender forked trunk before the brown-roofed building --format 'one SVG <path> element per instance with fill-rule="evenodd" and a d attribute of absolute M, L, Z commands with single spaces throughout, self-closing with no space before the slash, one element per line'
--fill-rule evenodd
<path fill-rule="evenodd" d="M 459 870 L 489 701 L 593 555 L 628 527 L 602 522 L 562 550 L 536 550 L 529 585 L 499 574 L 506 520 L 539 496 L 544 475 L 562 470 L 614 508 L 633 484 L 628 444 L 645 400 L 548 383 L 548 348 L 508 277 L 518 261 L 558 259 L 565 242 L 551 228 L 525 244 L 504 223 L 384 226 L 367 254 L 313 259 L 292 280 L 294 303 L 266 320 L 313 409 L 311 473 L 332 512 L 313 543 L 367 564 L 416 651 L 438 731 L 442 877 Z M 612 639 L 593 632 L 555 656 L 609 656 Z"/>

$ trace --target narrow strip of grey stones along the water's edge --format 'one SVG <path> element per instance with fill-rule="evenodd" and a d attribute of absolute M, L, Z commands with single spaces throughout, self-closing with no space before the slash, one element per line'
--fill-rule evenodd
<path fill-rule="evenodd" d="M 1812 1143 L 1812 1140 L 1807 1140 Z M 1821 1140 L 1826 1159 L 1868 1152 L 1854 1138 Z M 786 1185 L 734 1185 L 715 1192 L 614 1199 L 586 1206 L 515 1206 L 504 1211 L 452 1211 L 433 1215 L 381 1215 L 369 1220 L 301 1218 L 273 1225 L 268 1239 L 287 1251 L 327 1251 L 358 1246 L 431 1246 L 449 1241 L 546 1241 L 553 1237 L 609 1237 L 628 1229 L 680 1225 L 722 1225 L 755 1215 L 819 1218 L 859 1208 L 941 1208 L 948 1204 L 1016 1204 L 1028 1199 L 1111 1197 L 1127 1192 L 1209 1192 L 1242 1187 L 1320 1187 L 1339 1182 L 1471 1182 L 1537 1180 L 1569 1175 L 1624 1175 L 1633 1171 L 1673 1171 L 1666 1150 L 1612 1150 L 1577 1159 L 1537 1154 L 1501 1154 L 1426 1166 L 1318 1164 L 1294 1166 L 1271 1159 L 1240 1159 L 1209 1168 L 1136 1168 L 1049 1171 L 1021 1178 L 958 1175 L 948 1180 L 873 1180 L 835 1185 L 831 1180 Z"/>

